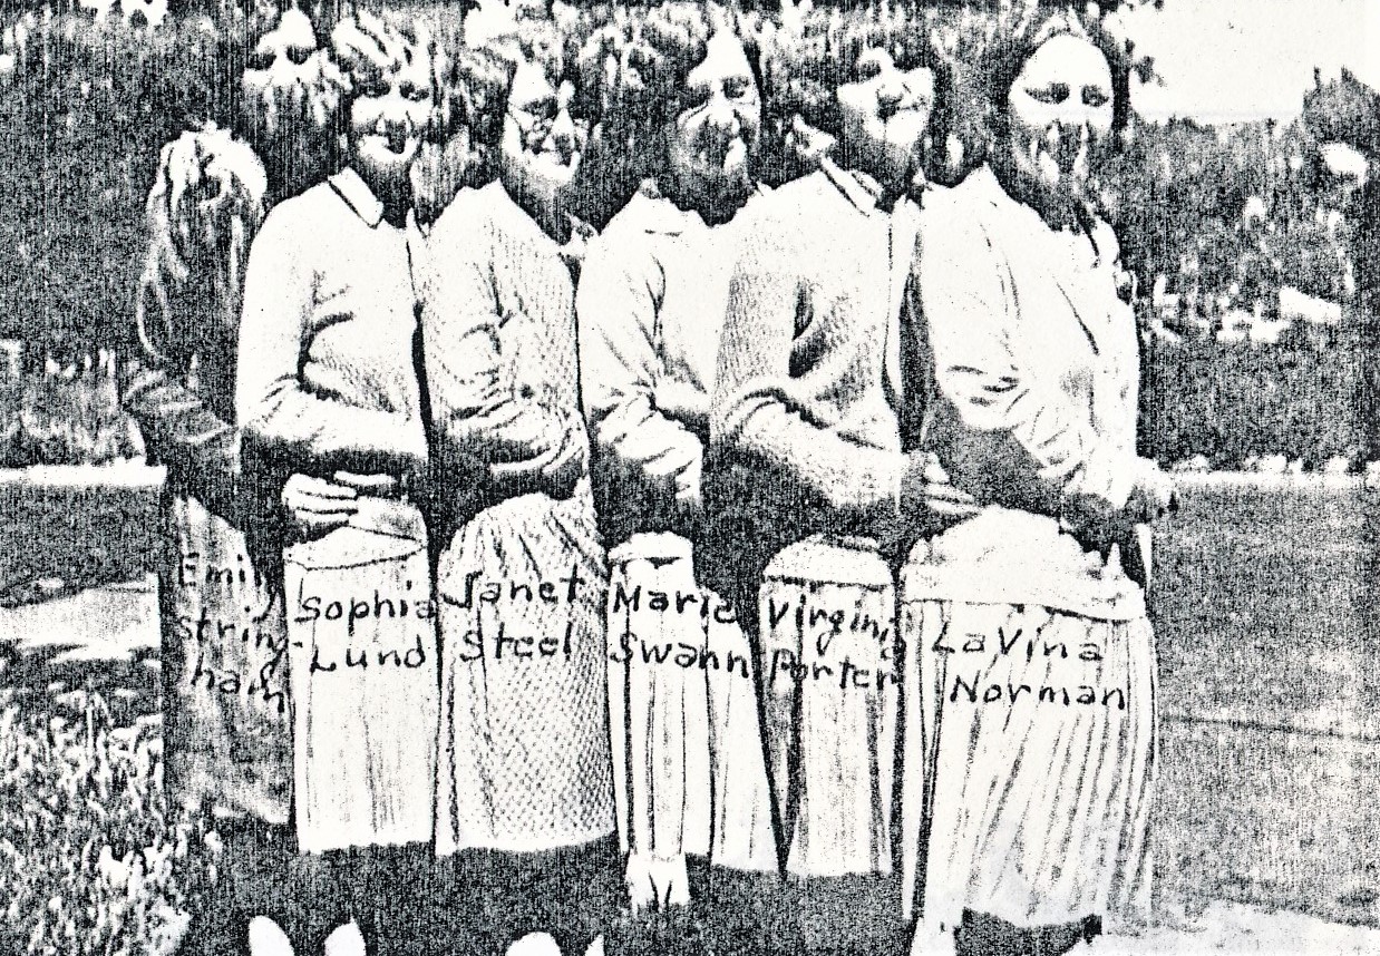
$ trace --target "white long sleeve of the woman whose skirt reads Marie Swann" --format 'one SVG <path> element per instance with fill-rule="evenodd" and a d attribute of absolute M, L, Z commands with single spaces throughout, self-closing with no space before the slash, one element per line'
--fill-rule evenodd
<path fill-rule="evenodd" d="M 672 528 L 676 504 L 700 499 L 704 443 L 693 428 L 707 430 L 708 403 L 698 392 L 668 395 L 660 381 L 656 330 L 665 279 L 642 252 L 596 246 L 575 309 L 584 403 L 603 480 L 611 497 L 642 505 L 644 513 L 627 515 L 638 524 L 629 531 L 660 531 Z"/>

